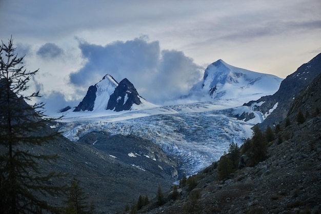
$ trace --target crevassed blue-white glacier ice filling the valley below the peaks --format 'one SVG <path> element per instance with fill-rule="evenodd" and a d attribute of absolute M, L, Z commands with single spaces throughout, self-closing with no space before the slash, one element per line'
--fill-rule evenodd
<path fill-rule="evenodd" d="M 180 160 L 179 169 L 197 173 L 217 161 L 230 143 L 242 145 L 252 135 L 251 127 L 262 122 L 262 114 L 252 107 L 238 106 L 240 100 L 160 106 L 134 111 L 69 112 L 61 119 L 59 131 L 71 141 L 92 131 L 134 134 L 151 140 L 167 155 Z M 254 112 L 249 121 L 235 115 Z"/>

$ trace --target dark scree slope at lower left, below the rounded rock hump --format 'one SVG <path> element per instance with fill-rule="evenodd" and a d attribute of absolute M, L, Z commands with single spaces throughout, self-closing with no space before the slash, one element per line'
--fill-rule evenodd
<path fill-rule="evenodd" d="M 45 131 L 45 130 L 44 130 Z M 50 128 L 46 131 L 51 131 Z M 139 145 L 141 139 L 122 137 L 127 139 L 127 145 Z M 158 152 L 160 149 L 155 145 L 146 145 L 145 149 L 150 152 Z M 140 194 L 154 198 L 156 196 L 158 185 L 164 189 L 168 189 L 174 178 L 169 176 L 164 170 L 166 163 L 159 161 L 149 161 L 146 164 L 154 163 L 162 165 L 164 170 L 157 171 L 143 170 L 135 166 L 135 162 L 124 162 L 119 155 L 118 158 L 112 157 L 110 154 L 94 148 L 92 145 L 85 145 L 78 142 L 71 142 L 63 136 L 55 141 L 30 148 L 25 146 L 22 150 L 29 150 L 32 154 L 57 154 L 56 162 L 40 162 L 39 168 L 41 174 L 49 171 L 62 172 L 64 177 L 51 179 L 48 185 L 70 185 L 73 178 L 80 181 L 80 187 L 84 189 L 85 196 L 88 197 L 87 202 L 95 206 L 95 213 L 114 213 L 123 210 L 126 204 L 131 203 L 133 199 L 137 199 Z M 4 149 L 0 146 L 0 152 Z M 135 150 L 139 153 L 139 149 Z M 127 152 L 128 153 L 128 152 Z M 126 156 L 128 157 L 126 153 Z M 158 153 L 157 153 L 158 155 Z M 159 154 L 161 155 L 161 154 Z M 142 155 L 143 156 L 143 155 Z M 156 157 L 158 160 L 158 156 Z M 128 157 L 130 159 L 130 157 Z M 134 159 L 134 158 L 132 158 Z M 141 164 L 145 162 L 142 161 Z M 152 167 L 152 166 L 150 166 Z M 154 167 L 154 166 L 153 166 Z M 64 201 L 66 198 L 40 196 L 42 199 L 55 206 L 66 206 Z"/>

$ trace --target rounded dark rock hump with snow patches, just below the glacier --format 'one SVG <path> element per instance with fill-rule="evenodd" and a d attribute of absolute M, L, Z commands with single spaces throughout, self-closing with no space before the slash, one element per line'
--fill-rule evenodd
<path fill-rule="evenodd" d="M 109 135 L 106 132 L 90 132 L 79 139 L 79 143 L 91 145 L 114 159 L 143 171 L 149 171 L 167 181 L 178 179 L 176 161 L 170 159 L 150 140 L 132 134 L 125 136 L 122 134 Z"/>

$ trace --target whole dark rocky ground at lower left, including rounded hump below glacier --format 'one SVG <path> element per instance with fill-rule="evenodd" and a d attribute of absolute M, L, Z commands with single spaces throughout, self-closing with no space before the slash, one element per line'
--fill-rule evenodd
<path fill-rule="evenodd" d="M 43 130 L 43 132 L 50 131 L 49 127 Z M 69 185 L 75 177 L 84 188 L 88 202 L 95 205 L 97 213 L 114 213 L 123 210 L 126 204 L 133 199 L 136 200 L 140 194 L 154 198 L 158 185 L 168 189 L 176 180 L 177 171 L 172 167 L 174 162 L 168 159 L 155 144 L 134 136 L 117 135 L 106 137 L 104 141 L 103 139 L 91 133 L 83 137 L 81 143 L 75 143 L 61 136 L 42 146 L 32 148 L 23 146 L 21 149 L 29 150 L 36 155 L 57 154 L 56 162 L 39 163 L 42 174 L 49 171 L 65 174 L 60 179 L 50 179 L 48 184 Z M 92 145 L 96 140 L 98 140 L 97 144 Z M 114 147 L 110 147 L 113 153 L 99 148 L 104 144 L 111 146 L 113 143 Z M 117 143 L 123 144 L 117 145 Z M 0 151 L 5 150 L 2 146 L 0 145 Z M 117 151 L 117 147 L 122 146 L 128 148 Z M 130 157 L 131 154 L 132 157 Z M 150 158 L 144 156 L 145 154 L 150 155 Z M 139 158 L 141 159 L 138 163 L 135 159 Z M 50 204 L 66 205 L 64 197 L 49 196 L 47 200 Z"/>

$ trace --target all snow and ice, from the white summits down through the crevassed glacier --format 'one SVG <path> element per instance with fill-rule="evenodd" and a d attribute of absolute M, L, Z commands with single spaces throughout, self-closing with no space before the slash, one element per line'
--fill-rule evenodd
<path fill-rule="evenodd" d="M 115 112 L 102 108 L 108 101 L 102 95 L 109 97 L 117 84 L 107 75 L 107 83 L 97 84 L 94 110 L 64 112 L 59 131 L 71 141 L 78 141 L 92 131 L 134 134 L 157 144 L 167 155 L 179 160 L 179 170 L 191 175 L 217 161 L 230 143 L 240 146 L 251 137 L 251 128 L 263 122 L 267 114 L 254 110 L 262 103 L 243 104 L 273 94 L 281 81 L 277 76 L 218 60 L 205 70 L 203 82 L 176 101 L 182 104 L 156 106 L 141 99 L 142 104 L 133 104 L 131 110 Z M 200 100 L 187 103 L 194 98 Z"/>

